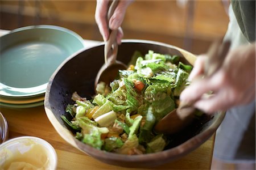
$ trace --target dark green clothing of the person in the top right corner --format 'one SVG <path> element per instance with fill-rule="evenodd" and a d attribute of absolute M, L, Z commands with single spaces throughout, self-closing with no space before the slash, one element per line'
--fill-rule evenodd
<path fill-rule="evenodd" d="M 255 1 L 232 0 L 238 25 L 249 42 L 255 41 Z"/>

